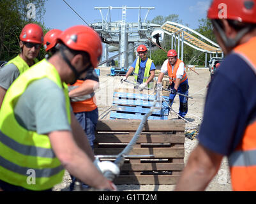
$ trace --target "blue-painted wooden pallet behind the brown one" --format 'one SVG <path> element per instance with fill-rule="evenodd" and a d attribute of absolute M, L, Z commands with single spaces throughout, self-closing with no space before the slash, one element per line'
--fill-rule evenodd
<path fill-rule="evenodd" d="M 163 96 L 167 101 L 168 97 Z M 110 119 L 142 119 L 154 103 L 154 95 L 137 92 L 114 92 Z M 165 102 L 156 103 L 149 120 L 167 120 L 169 108 Z"/>

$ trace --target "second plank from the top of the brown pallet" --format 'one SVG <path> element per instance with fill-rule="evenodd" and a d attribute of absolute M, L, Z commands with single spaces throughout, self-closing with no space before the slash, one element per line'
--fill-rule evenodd
<path fill-rule="evenodd" d="M 129 143 L 132 140 L 134 133 L 132 135 L 128 134 L 111 134 L 111 133 L 96 133 L 95 142 L 123 142 Z M 140 135 L 137 143 L 184 143 L 185 136 L 176 136 L 171 134 L 162 135 Z"/>

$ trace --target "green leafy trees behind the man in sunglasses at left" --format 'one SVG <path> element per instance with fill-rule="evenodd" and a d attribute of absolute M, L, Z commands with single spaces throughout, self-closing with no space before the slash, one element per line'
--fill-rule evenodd
<path fill-rule="evenodd" d="M 24 25 L 29 23 L 39 24 L 44 33 L 49 29 L 43 25 L 45 14 L 45 1 L 47 0 L 1 0 L 0 1 L 0 60 L 9 61 L 20 53 L 19 35 Z M 36 9 L 35 18 L 27 18 L 27 4 L 33 3 Z M 45 51 L 41 48 L 42 59 Z"/>

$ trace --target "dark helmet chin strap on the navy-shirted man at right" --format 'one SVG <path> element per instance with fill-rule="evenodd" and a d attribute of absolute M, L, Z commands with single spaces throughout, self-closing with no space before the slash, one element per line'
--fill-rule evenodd
<path fill-rule="evenodd" d="M 220 25 L 216 22 L 216 20 L 212 20 L 212 22 L 213 22 L 213 26 L 216 28 L 218 33 L 220 33 L 220 37 L 222 38 L 225 47 L 229 47 L 229 48 L 236 47 L 238 41 L 241 40 L 241 38 L 246 33 L 251 31 L 251 29 L 252 29 L 252 27 L 247 26 L 244 29 L 241 29 L 241 31 L 239 31 L 237 33 L 236 38 L 232 39 L 232 38 L 227 38 L 227 36 L 226 36 L 225 32 L 223 31 L 222 27 L 220 27 Z"/>

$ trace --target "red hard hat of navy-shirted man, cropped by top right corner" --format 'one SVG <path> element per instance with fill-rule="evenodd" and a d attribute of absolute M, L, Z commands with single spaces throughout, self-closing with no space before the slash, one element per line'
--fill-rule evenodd
<path fill-rule="evenodd" d="M 256 23 L 256 0 L 213 0 L 207 17 L 227 18 L 239 22 Z"/>

